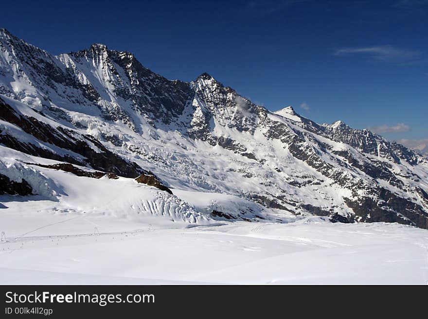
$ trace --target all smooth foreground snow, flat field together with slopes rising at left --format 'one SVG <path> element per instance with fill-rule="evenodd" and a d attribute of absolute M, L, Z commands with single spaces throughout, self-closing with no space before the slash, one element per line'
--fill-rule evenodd
<path fill-rule="evenodd" d="M 24 164 L 57 161 L 2 146 L 0 153 L 8 168 L 2 172 L 40 192 L 0 195 L 0 231 L 6 235 L 0 284 L 428 281 L 427 230 L 284 218 L 280 210 L 228 194 L 172 189 L 171 195 L 130 178 L 79 177 Z M 214 220 L 214 210 L 237 219 Z M 243 221 L 259 215 L 264 219 Z M 282 222 L 271 222 L 276 217 Z"/>

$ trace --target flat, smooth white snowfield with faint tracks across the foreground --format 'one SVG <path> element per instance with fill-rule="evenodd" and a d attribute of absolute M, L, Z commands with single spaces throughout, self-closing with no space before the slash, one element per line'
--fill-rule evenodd
<path fill-rule="evenodd" d="M 159 225 L 153 218 L 130 222 L 72 212 L 0 214 L 10 236 L 50 224 L 0 243 L 1 284 L 428 281 L 428 231 L 399 224 L 305 218 L 287 224 L 237 221 L 186 228 Z M 100 235 L 91 235 L 94 225 Z"/>

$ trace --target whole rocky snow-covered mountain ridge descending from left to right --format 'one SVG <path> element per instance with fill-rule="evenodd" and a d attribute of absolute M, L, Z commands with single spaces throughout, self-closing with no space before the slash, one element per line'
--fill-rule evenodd
<path fill-rule="evenodd" d="M 0 144 L 16 168 L 0 171 L 3 193 L 35 194 L 16 171 L 67 162 L 120 181 L 153 176 L 194 222 L 319 215 L 428 228 L 428 161 L 414 151 L 292 107 L 270 112 L 207 73 L 170 81 L 102 44 L 54 56 L 0 29 Z M 206 193 L 223 195 L 198 204 Z"/>

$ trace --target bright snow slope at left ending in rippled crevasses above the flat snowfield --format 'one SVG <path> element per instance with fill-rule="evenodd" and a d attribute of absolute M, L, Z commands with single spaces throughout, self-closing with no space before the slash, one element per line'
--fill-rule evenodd
<path fill-rule="evenodd" d="M 19 160 L 6 157 L 7 152 L 15 153 L 15 157 L 19 156 L 18 152 L 0 146 L 0 153 L 4 157 L 0 160 L 0 173 L 18 182 L 24 178 L 37 195 L 28 199 L 17 195 L 1 196 L 1 201 L 11 202 L 12 210 L 25 211 L 29 209 L 27 202 L 34 201 L 40 202 L 37 209 L 39 212 L 73 211 L 107 216 L 149 214 L 173 221 L 202 224 L 209 219 L 176 196 L 152 186 L 139 184 L 133 179 L 76 176 L 71 172 L 23 164 Z M 22 158 L 22 155 L 19 157 Z M 31 159 L 37 163 L 34 161 L 37 160 L 36 157 Z"/>

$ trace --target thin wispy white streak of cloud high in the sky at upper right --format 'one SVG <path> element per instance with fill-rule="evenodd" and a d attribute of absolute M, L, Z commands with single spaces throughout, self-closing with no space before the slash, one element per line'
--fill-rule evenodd
<path fill-rule="evenodd" d="M 335 55 L 350 55 L 350 54 L 367 54 L 376 60 L 391 61 L 391 60 L 410 60 L 420 55 L 419 51 L 404 50 L 393 47 L 391 45 L 362 47 L 362 48 L 341 48 L 336 50 Z"/>

